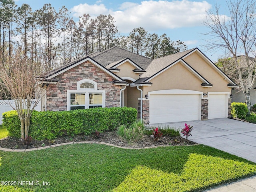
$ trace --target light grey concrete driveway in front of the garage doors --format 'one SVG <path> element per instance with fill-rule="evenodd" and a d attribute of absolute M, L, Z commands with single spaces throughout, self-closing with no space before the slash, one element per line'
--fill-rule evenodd
<path fill-rule="evenodd" d="M 193 126 L 188 139 L 256 162 L 256 124 L 220 118 L 186 122 Z M 184 122 L 169 123 L 184 128 Z"/>

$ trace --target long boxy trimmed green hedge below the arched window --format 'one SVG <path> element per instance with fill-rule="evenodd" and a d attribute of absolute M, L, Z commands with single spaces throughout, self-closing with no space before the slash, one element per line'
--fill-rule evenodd
<path fill-rule="evenodd" d="M 135 108 L 92 108 L 72 111 L 34 111 L 30 118 L 29 135 L 36 140 L 52 140 L 58 136 L 91 134 L 115 130 L 121 124 L 131 124 L 137 118 Z M 20 138 L 20 119 L 16 111 L 3 113 L 3 127 L 10 136 Z"/>

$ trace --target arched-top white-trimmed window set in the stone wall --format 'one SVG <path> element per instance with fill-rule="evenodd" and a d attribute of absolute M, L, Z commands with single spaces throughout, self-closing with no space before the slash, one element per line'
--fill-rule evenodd
<path fill-rule="evenodd" d="M 77 82 L 77 90 L 67 90 L 67 110 L 105 107 L 105 90 L 97 90 L 92 80 Z"/>

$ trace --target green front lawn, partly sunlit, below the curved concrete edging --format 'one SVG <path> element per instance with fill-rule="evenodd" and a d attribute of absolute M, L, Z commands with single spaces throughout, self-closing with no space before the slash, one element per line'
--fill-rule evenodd
<path fill-rule="evenodd" d="M 0 186 L 6 192 L 194 192 L 254 175 L 256 164 L 204 145 L 132 150 L 73 144 L 31 152 L 0 151 L 0 173 L 0 181 L 41 184 Z"/>

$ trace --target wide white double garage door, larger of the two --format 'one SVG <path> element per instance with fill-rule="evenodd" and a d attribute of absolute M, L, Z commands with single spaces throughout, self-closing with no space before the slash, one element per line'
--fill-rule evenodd
<path fill-rule="evenodd" d="M 150 124 L 198 120 L 200 105 L 199 94 L 150 94 Z"/>

